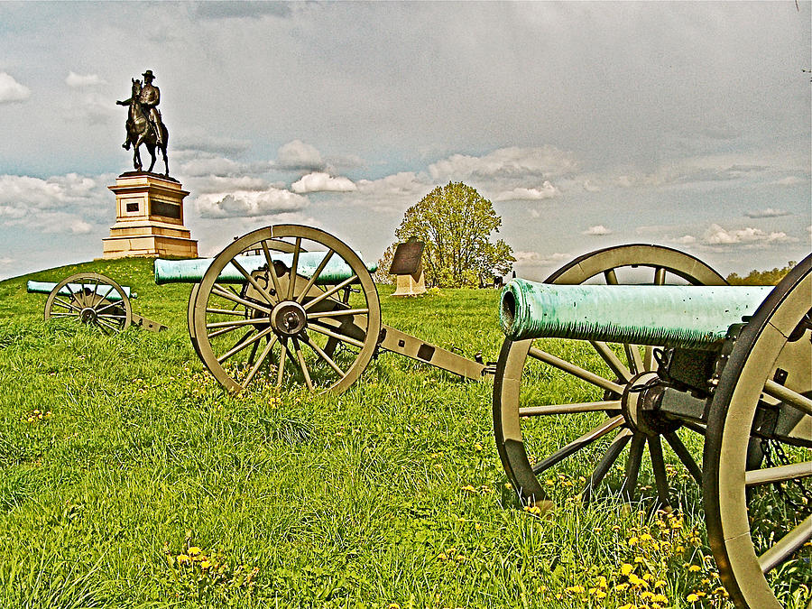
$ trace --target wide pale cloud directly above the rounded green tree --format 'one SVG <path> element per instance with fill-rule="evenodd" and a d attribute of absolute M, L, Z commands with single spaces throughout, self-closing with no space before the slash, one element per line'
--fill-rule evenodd
<path fill-rule="evenodd" d="M 500 179 L 559 176 L 575 171 L 577 162 L 571 152 L 555 146 L 539 148 L 500 148 L 484 156 L 453 154 L 429 165 L 433 180 L 466 180 L 471 177 Z"/>

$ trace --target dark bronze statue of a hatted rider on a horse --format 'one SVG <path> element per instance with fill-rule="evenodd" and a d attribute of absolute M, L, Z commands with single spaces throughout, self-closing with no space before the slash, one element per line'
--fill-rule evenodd
<path fill-rule="evenodd" d="M 169 160 L 166 158 L 166 144 L 169 142 L 169 131 L 161 120 L 161 111 L 158 104 L 161 103 L 161 91 L 152 84 L 155 78 L 152 69 L 148 69 L 143 74 L 143 85 L 141 80 L 132 78 L 133 89 L 129 99 L 116 101 L 119 106 L 130 106 L 127 114 L 126 130 L 127 135 L 122 148 L 130 150 L 133 146 L 133 165 L 135 171 L 142 171 L 141 153 L 138 147 L 143 143 L 150 152 L 152 162 L 147 172 L 152 171 L 155 165 L 155 149 L 163 154 L 163 163 L 166 166 L 166 173 L 169 178 Z"/>

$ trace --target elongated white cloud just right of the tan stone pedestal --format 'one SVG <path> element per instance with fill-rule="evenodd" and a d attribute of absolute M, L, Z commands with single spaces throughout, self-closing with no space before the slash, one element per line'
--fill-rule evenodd
<path fill-rule="evenodd" d="M 211 193 L 197 198 L 196 207 L 201 217 L 257 217 L 274 216 L 306 208 L 308 199 L 290 190 L 235 190 L 229 193 Z"/>

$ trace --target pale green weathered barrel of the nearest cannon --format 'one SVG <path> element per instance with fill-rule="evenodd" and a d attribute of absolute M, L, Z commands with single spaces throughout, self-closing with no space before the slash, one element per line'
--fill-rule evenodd
<path fill-rule="evenodd" d="M 574 338 L 713 349 L 772 286 L 557 285 L 514 279 L 499 318 L 512 340 Z"/>

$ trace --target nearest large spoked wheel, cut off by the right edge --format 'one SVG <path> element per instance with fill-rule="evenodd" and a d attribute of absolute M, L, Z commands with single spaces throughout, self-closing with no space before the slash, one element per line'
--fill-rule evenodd
<path fill-rule="evenodd" d="M 780 281 L 736 339 L 711 404 L 707 532 L 740 607 L 812 601 L 810 305 L 812 256 Z M 748 470 L 751 434 L 763 438 L 767 458 Z"/>

